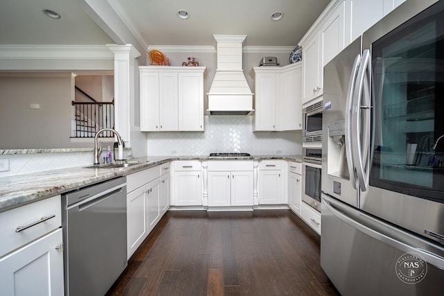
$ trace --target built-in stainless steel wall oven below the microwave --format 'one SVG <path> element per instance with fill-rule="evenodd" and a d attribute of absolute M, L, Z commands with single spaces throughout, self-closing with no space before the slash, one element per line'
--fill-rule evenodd
<path fill-rule="evenodd" d="M 322 148 L 302 150 L 302 201 L 321 211 Z"/>

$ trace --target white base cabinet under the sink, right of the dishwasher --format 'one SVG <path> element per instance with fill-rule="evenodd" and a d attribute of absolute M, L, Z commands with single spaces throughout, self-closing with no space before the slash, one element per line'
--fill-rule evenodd
<path fill-rule="evenodd" d="M 128 259 L 169 209 L 169 163 L 126 176 Z"/>

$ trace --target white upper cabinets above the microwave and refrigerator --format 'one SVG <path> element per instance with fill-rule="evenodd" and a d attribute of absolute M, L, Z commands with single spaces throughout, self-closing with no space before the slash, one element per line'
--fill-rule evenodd
<path fill-rule="evenodd" d="M 323 67 L 405 0 L 332 0 L 302 37 L 302 104 L 323 94 Z"/>

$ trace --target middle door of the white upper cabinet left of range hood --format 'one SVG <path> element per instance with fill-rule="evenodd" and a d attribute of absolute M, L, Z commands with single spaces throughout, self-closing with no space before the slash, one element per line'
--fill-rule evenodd
<path fill-rule="evenodd" d="M 178 73 L 159 73 L 161 131 L 178 130 Z"/>

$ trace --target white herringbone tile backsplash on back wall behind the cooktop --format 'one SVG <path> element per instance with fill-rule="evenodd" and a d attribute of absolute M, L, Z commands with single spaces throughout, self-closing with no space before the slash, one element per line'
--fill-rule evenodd
<path fill-rule="evenodd" d="M 300 155 L 301 132 L 253 132 L 253 116 L 205 116 L 205 132 L 150 132 L 148 155 Z"/>

